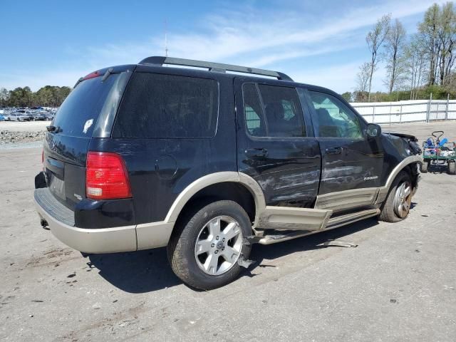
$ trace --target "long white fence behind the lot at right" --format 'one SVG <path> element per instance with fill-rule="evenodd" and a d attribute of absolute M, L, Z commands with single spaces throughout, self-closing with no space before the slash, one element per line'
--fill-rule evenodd
<path fill-rule="evenodd" d="M 368 123 L 456 120 L 456 100 L 351 103 Z"/>

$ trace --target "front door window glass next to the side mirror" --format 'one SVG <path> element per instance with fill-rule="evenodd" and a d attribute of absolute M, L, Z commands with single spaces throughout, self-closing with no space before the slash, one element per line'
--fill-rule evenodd
<path fill-rule="evenodd" d="M 333 95 L 309 91 L 316 111 L 316 134 L 325 138 L 363 138 L 358 116 Z"/>

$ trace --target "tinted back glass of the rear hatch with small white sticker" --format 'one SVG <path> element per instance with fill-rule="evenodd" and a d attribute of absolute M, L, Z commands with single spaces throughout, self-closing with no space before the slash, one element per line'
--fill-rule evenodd
<path fill-rule="evenodd" d="M 53 121 L 53 125 L 58 126 L 59 133 L 90 138 L 101 108 L 118 76 L 119 74 L 113 74 L 103 82 L 103 77 L 95 77 L 79 83 L 63 101 Z"/>

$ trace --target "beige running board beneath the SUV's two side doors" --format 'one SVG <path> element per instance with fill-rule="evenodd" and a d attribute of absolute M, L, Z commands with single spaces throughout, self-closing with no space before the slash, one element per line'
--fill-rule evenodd
<path fill-rule="evenodd" d="M 323 230 L 317 231 L 286 231 L 286 230 L 274 230 L 271 231 L 271 234 L 266 234 L 267 230 L 264 230 L 265 235 L 263 237 L 254 237 L 252 242 L 258 244 L 276 244 L 277 242 L 287 241 L 291 239 L 296 239 L 298 237 L 305 237 L 306 235 L 315 234 L 318 232 L 323 232 L 325 230 L 334 229 L 338 227 L 345 226 L 346 224 L 351 224 L 353 222 L 359 221 L 361 219 L 367 219 L 368 217 L 373 217 L 380 214 L 380 209 L 367 209 L 362 212 L 354 212 L 351 214 L 345 214 L 338 217 L 333 217 L 328 220 L 326 227 Z"/>

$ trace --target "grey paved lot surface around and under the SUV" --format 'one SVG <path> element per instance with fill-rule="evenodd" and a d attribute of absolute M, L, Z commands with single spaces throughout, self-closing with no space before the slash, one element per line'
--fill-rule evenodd
<path fill-rule="evenodd" d="M 455 138 L 454 122 L 394 130 L 440 127 Z M 255 246 L 257 266 L 198 292 L 164 249 L 84 259 L 41 229 L 40 159 L 41 149 L 0 150 L 0 340 L 456 341 L 456 176 L 423 175 L 403 222 Z M 328 239 L 359 246 L 319 246 Z"/>

